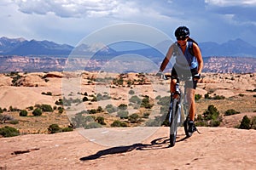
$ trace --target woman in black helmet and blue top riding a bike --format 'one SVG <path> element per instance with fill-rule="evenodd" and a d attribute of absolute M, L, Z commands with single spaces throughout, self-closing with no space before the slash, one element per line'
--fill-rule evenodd
<path fill-rule="evenodd" d="M 186 81 L 185 86 L 187 89 L 187 98 L 189 103 L 189 132 L 194 133 L 195 127 L 195 88 L 198 80 L 201 78 L 201 71 L 203 67 L 203 59 L 201 50 L 197 43 L 189 37 L 189 28 L 186 26 L 179 26 L 175 31 L 177 42 L 172 43 L 168 49 L 165 59 L 160 65 L 160 71 L 157 73 L 159 76 L 163 75 L 166 65 L 169 63 L 172 56 L 176 57 L 175 65 L 172 67 L 171 75 L 171 95 L 175 98 L 177 93 L 175 87 L 177 77 L 186 77 L 190 75 L 193 80 Z"/>

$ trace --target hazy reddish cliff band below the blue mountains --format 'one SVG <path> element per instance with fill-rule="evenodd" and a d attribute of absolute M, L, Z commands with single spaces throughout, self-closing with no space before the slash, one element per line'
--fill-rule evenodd
<path fill-rule="evenodd" d="M 129 61 L 125 61 L 125 63 L 127 62 Z M 152 62 L 156 62 L 155 59 Z M 157 62 L 161 62 L 161 59 L 158 59 Z M 68 59 L 64 57 L 0 56 L 0 63 L 0 72 L 68 71 L 74 68 L 85 71 L 100 71 L 102 66 L 108 63 L 108 60 L 74 57 Z M 133 65 L 133 63 L 131 64 Z M 147 65 L 147 63 L 145 64 Z M 256 59 L 250 57 L 206 57 L 204 64 L 204 72 L 253 73 L 256 71 Z"/>

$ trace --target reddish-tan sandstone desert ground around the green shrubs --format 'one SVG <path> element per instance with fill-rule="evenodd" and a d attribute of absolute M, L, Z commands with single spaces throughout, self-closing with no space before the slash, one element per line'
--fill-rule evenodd
<path fill-rule="evenodd" d="M 19 123 L 2 122 L 0 127 L 15 127 L 21 135 L 0 138 L 0 169 L 253 169 L 256 166 L 256 131 L 235 128 L 243 116 L 256 116 L 255 73 L 204 73 L 195 94 L 224 96 L 224 99 L 198 100 L 197 114 L 206 111 L 208 105 L 215 105 L 221 115 L 229 109 L 240 113 L 223 116 L 219 127 L 198 127 L 201 133 L 194 133 L 189 139 L 185 138 L 183 127 L 179 127 L 177 144 L 173 148 L 168 147 L 167 127 L 158 127 L 154 133 L 149 133 L 152 132 L 149 127 L 119 133 L 124 127 L 110 127 L 109 123 L 115 118 L 103 113 L 101 116 L 105 116 L 107 122 L 103 132 L 102 128 L 97 128 L 93 133 L 90 129 L 48 133 L 47 128 L 53 123 L 60 127 L 70 126 L 70 117 L 84 108 L 105 108 L 109 102 L 112 105 L 128 105 L 131 89 L 137 95 L 148 95 L 152 103 L 155 103 L 158 95 L 169 95 L 168 80 L 159 80 L 150 75 L 143 78 L 136 74 L 122 77 L 125 81 L 137 79 L 131 86 L 127 81 L 122 85 L 113 81 L 96 81 L 97 77 L 115 76 L 91 72 L 19 73 L 19 76 L 16 73 L 1 74 L 0 108 L 5 108 L 2 114 L 14 117 Z M 47 92 L 50 95 L 45 95 Z M 84 92 L 89 96 L 105 93 L 111 99 L 84 101 L 65 107 L 64 113 L 44 112 L 42 116 L 32 116 L 32 111 L 28 111 L 28 116 L 19 116 L 19 111 L 9 111 L 10 106 L 18 110 L 42 104 L 54 107 L 63 95 L 81 99 Z M 131 112 L 138 112 L 138 109 L 130 109 Z M 160 108 L 155 107 L 151 117 L 157 115 L 157 109 Z M 90 133 L 99 135 L 90 136 Z M 139 138 L 145 133 L 148 136 Z M 119 141 L 112 140 L 114 138 Z"/>

